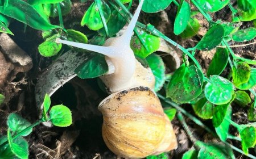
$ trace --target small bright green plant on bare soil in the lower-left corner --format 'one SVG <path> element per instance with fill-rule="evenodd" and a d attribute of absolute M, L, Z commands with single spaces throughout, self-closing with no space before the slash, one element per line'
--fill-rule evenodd
<path fill-rule="evenodd" d="M 52 106 L 51 99 L 46 94 L 44 98 L 43 114 L 35 123 L 31 124 L 22 116 L 11 113 L 7 118 L 7 135 L 0 137 L 0 158 L 28 158 L 28 142 L 23 136 L 28 136 L 32 129 L 42 122 L 51 122 L 57 127 L 68 127 L 72 124 L 71 111 L 61 105 Z M 49 110 L 49 113 L 48 113 Z"/>

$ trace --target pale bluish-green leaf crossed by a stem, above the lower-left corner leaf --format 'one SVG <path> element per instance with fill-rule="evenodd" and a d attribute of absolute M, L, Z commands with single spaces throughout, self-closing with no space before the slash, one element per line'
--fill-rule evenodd
<path fill-rule="evenodd" d="M 15 133 L 22 132 L 24 129 L 31 125 L 26 119 L 22 118 L 22 116 L 11 113 L 7 118 L 7 125 L 11 129 L 11 131 Z M 32 128 L 28 129 L 27 131 L 23 132 L 22 136 L 27 136 L 32 132 Z"/>

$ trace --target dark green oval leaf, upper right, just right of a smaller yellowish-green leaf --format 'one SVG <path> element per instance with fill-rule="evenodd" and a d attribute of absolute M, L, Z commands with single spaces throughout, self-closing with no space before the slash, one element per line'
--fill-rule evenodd
<path fill-rule="evenodd" d="M 212 26 L 196 45 L 196 48 L 200 50 L 211 50 L 221 43 L 224 34 L 223 26 L 220 24 Z"/>

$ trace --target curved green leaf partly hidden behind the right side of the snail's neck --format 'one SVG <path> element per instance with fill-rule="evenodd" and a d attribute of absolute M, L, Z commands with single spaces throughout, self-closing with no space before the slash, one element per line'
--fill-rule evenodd
<path fill-rule="evenodd" d="M 154 90 L 157 92 L 163 87 L 163 84 L 166 80 L 166 67 L 164 66 L 162 58 L 159 55 L 156 55 L 155 53 L 152 53 L 150 56 L 147 56 L 146 60 L 155 76 Z"/>

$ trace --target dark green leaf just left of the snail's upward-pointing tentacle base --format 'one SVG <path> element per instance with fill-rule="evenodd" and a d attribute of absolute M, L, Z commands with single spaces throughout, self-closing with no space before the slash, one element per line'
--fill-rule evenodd
<path fill-rule="evenodd" d="M 121 10 L 122 11 L 122 10 Z M 107 23 L 108 29 L 109 29 L 109 35 L 113 36 L 117 34 L 126 24 L 126 20 L 123 18 L 121 14 L 118 13 L 118 11 L 114 10 L 111 15 L 109 22 Z M 100 35 L 106 35 L 105 29 L 101 28 L 98 30 Z"/>

